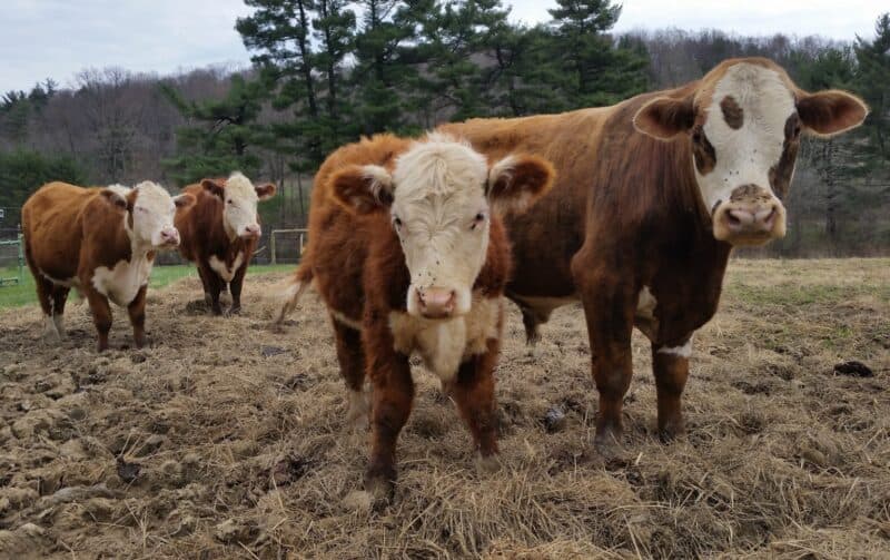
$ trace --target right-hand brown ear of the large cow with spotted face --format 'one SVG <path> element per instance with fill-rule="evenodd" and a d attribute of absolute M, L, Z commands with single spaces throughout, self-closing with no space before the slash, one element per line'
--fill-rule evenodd
<path fill-rule="evenodd" d="M 807 94 L 798 91 L 798 115 L 817 136 L 834 136 L 866 120 L 869 107 L 856 96 L 837 89 Z"/>

